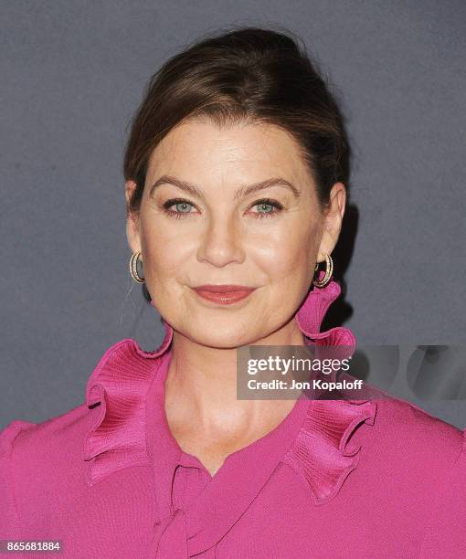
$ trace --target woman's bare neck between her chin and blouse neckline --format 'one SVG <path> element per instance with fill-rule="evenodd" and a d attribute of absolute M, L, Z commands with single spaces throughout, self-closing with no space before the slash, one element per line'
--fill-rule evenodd
<path fill-rule="evenodd" d="M 254 345 L 305 345 L 294 320 Z M 237 399 L 237 349 L 194 343 L 174 332 L 165 381 L 165 411 L 175 434 L 202 432 L 207 440 L 255 440 L 281 423 L 295 400 Z M 176 438 L 176 437 L 175 437 Z"/>

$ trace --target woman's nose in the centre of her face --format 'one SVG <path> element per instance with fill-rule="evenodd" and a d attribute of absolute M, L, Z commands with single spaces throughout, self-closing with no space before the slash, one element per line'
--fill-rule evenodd
<path fill-rule="evenodd" d="M 230 262 L 242 262 L 245 257 L 240 225 L 235 216 L 211 216 L 202 232 L 197 259 L 222 268 Z"/>

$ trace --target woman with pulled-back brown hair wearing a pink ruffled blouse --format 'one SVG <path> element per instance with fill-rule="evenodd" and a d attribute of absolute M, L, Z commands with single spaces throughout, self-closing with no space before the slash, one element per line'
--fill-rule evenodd
<path fill-rule="evenodd" d="M 355 347 L 321 332 L 348 158 L 284 34 L 210 37 L 154 75 L 124 174 L 130 270 L 164 341 L 115 343 L 85 403 L 5 428 L 1 538 L 66 557 L 466 556 L 464 431 L 396 398 L 237 398 L 239 347 Z"/>

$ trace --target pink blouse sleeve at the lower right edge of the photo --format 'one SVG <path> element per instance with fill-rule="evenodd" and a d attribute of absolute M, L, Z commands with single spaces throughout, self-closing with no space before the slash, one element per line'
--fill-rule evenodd
<path fill-rule="evenodd" d="M 426 527 L 419 558 L 458 559 L 466 557 L 466 429 L 462 446 L 438 499 L 432 499 L 430 522 Z"/>

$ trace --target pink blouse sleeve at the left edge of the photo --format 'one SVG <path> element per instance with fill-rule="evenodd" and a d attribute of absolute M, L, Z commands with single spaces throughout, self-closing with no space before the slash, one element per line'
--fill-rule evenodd
<path fill-rule="evenodd" d="M 12 421 L 0 431 L 0 540 L 14 540 L 21 529 L 15 502 L 12 455 L 16 437 L 35 423 Z"/>

